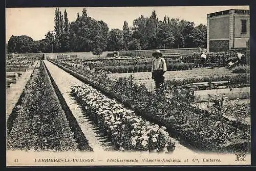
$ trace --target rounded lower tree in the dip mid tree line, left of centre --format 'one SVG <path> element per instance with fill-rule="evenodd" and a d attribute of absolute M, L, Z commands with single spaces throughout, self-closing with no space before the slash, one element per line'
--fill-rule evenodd
<path fill-rule="evenodd" d="M 119 29 L 112 29 L 109 33 L 108 50 L 118 51 L 123 45 L 123 33 Z"/>

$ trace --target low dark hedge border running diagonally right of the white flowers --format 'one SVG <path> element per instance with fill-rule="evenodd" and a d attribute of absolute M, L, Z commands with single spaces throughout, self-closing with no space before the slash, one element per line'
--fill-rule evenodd
<path fill-rule="evenodd" d="M 249 150 L 248 147 L 251 146 L 251 142 L 245 141 L 245 142 L 239 142 L 239 143 L 234 142 L 231 144 L 224 144 L 224 145 L 220 146 L 219 149 L 208 148 L 206 144 L 208 144 L 209 141 L 204 140 L 203 139 L 204 137 L 199 136 L 199 135 L 193 136 L 194 135 L 193 130 L 181 131 L 179 127 L 177 127 L 174 123 L 166 120 L 165 118 L 162 118 L 161 116 L 157 116 L 157 115 L 148 114 L 147 112 L 141 110 L 140 107 L 131 105 L 127 101 L 123 101 L 120 97 L 118 97 L 116 94 L 114 94 L 110 90 L 107 90 L 100 85 L 96 85 L 95 83 L 86 79 L 84 76 L 76 73 L 75 71 L 72 71 L 66 67 L 63 67 L 53 61 L 50 61 L 50 62 L 52 62 L 59 68 L 67 71 L 69 74 L 71 74 L 78 80 L 82 81 L 83 83 L 89 84 L 93 88 L 98 89 L 106 96 L 108 96 L 112 99 L 116 99 L 117 101 L 122 103 L 125 107 L 133 109 L 137 115 L 140 115 L 147 120 L 151 120 L 152 122 L 158 124 L 159 126 L 165 126 L 171 136 L 180 137 L 183 141 L 186 141 L 186 143 L 188 143 L 189 145 L 193 146 L 194 148 L 196 148 L 198 150 L 211 151 L 211 152 L 230 152 L 230 151 L 234 152 L 239 149 L 246 149 L 246 151 L 248 151 Z M 236 148 L 234 148 L 234 147 L 236 147 Z"/>

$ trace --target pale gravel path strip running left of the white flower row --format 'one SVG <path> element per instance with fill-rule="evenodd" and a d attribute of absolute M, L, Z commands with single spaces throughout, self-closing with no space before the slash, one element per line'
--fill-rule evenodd
<path fill-rule="evenodd" d="M 47 60 L 44 62 L 49 69 L 53 80 L 57 84 L 63 98 L 76 118 L 83 134 L 88 139 L 89 145 L 95 152 L 112 150 L 113 146 L 111 142 L 107 140 L 107 137 L 103 136 L 102 133 L 99 132 L 98 128 L 94 126 L 89 117 L 84 115 L 81 106 L 70 94 L 70 87 L 72 85 L 80 85 L 83 83 L 51 62 Z"/>

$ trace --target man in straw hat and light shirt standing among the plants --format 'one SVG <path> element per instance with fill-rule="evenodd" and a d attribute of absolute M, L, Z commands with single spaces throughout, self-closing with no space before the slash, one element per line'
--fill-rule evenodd
<path fill-rule="evenodd" d="M 164 83 L 164 73 L 167 70 L 165 60 L 162 58 L 163 54 L 156 50 L 152 56 L 154 57 L 152 61 L 152 79 L 155 80 L 156 89 Z"/>

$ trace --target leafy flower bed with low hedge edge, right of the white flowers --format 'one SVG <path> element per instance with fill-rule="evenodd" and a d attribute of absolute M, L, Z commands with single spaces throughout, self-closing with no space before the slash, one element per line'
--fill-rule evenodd
<path fill-rule="evenodd" d="M 134 108 L 136 114 L 167 127 L 169 133 L 197 149 L 215 152 L 250 151 L 250 127 L 245 130 L 246 134 L 241 128 L 235 133 L 236 128 L 230 121 L 224 120 L 225 129 L 219 129 L 219 118 L 210 117 L 209 113 L 190 106 L 193 95 L 187 90 L 170 86 L 164 91 L 148 92 L 144 85 L 136 85 L 132 77 L 110 80 L 105 71 L 58 66 L 104 94 Z"/>

